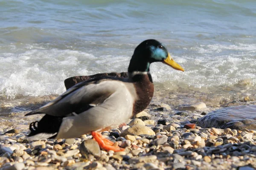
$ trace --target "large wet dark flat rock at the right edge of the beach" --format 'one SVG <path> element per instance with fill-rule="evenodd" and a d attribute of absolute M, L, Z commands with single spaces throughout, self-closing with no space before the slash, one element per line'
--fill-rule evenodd
<path fill-rule="evenodd" d="M 198 120 L 202 128 L 256 130 L 256 105 L 241 105 L 212 111 Z"/>

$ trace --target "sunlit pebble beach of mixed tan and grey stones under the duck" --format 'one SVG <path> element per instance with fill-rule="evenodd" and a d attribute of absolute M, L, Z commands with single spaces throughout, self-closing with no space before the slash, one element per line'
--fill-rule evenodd
<path fill-rule="evenodd" d="M 1 169 L 256 168 L 256 130 L 201 128 L 196 126 L 198 119 L 214 108 L 207 108 L 204 103 L 173 108 L 175 104 L 172 102 L 155 102 L 158 97 L 161 96 L 156 95 L 148 108 L 135 115 L 134 119 L 109 132 L 102 132 L 103 136 L 125 148 L 125 151 L 116 153 L 100 150 L 90 134 L 75 139 L 27 141 L 25 135 L 29 122 L 41 116 L 23 117 L 27 111 L 13 113 L 6 116 L 5 123 L 2 117 Z"/>

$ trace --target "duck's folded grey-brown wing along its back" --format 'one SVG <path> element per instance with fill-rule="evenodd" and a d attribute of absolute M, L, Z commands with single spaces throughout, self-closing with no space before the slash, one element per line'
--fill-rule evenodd
<path fill-rule="evenodd" d="M 113 85 L 113 82 L 115 82 L 115 85 Z M 119 82 L 120 85 L 123 84 L 122 81 L 115 81 L 114 79 L 81 82 L 48 104 L 27 113 L 26 116 L 40 113 L 51 116 L 67 116 L 70 113 L 79 114 L 99 105 L 111 96 L 116 91 L 116 82 Z"/>

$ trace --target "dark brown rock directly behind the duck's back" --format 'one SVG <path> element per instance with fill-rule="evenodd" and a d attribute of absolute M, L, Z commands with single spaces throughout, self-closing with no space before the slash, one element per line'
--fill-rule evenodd
<path fill-rule="evenodd" d="M 83 81 L 87 81 L 89 79 L 93 79 L 95 77 L 120 77 L 120 78 L 126 78 L 128 77 L 128 73 L 127 72 L 122 72 L 122 73 L 99 73 L 99 74 L 94 74 L 94 75 L 90 75 L 90 76 L 74 76 L 74 77 L 70 77 L 64 80 L 64 84 L 66 89 L 71 88 L 73 85 L 76 85 L 79 82 L 83 82 Z"/>

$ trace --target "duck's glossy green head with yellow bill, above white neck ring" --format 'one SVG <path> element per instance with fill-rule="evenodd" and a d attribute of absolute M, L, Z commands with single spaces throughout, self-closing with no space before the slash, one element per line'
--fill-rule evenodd
<path fill-rule="evenodd" d="M 184 71 L 184 69 L 172 59 L 163 44 L 157 40 L 145 40 L 135 48 L 128 72 L 149 71 L 149 65 L 152 62 L 163 62 L 176 70 Z"/>

